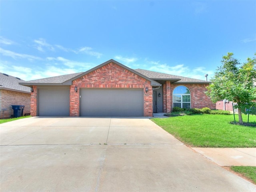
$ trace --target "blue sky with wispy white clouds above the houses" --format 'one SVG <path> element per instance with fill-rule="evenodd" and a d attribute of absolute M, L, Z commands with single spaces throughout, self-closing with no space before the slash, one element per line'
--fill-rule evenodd
<path fill-rule="evenodd" d="M 256 52 L 255 0 L 1 0 L 0 72 L 34 80 L 114 59 L 204 80 Z"/>

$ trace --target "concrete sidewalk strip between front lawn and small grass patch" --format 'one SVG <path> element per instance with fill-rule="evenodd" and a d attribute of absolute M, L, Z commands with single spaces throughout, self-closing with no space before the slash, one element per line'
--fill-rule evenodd
<path fill-rule="evenodd" d="M 256 148 L 192 148 L 219 166 L 256 166 Z"/>

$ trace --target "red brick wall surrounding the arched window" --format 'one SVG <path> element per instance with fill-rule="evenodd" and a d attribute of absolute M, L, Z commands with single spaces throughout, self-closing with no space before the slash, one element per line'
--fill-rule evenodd
<path fill-rule="evenodd" d="M 204 108 L 216 109 L 216 104 L 206 96 L 204 92 L 207 91 L 208 84 L 171 84 L 171 93 L 176 86 L 184 85 L 190 90 L 191 94 L 191 108 Z M 171 94 L 172 97 L 172 94 Z M 171 104 L 172 106 L 172 104 Z"/>

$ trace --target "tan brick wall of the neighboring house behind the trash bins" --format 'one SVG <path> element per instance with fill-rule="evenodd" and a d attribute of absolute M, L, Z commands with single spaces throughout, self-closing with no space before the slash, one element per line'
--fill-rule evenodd
<path fill-rule="evenodd" d="M 0 118 L 10 118 L 13 115 L 12 105 L 24 105 L 23 115 L 30 113 L 30 93 L 0 90 Z M 4 111 L 4 108 L 7 110 Z"/>

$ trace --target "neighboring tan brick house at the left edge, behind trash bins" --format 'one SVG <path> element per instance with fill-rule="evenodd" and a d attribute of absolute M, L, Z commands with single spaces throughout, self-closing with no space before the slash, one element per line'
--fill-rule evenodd
<path fill-rule="evenodd" d="M 23 115 L 30 113 L 30 88 L 20 82 L 24 80 L 0 73 L 0 118 L 13 115 L 12 105 L 24 105 Z"/>

